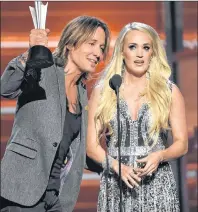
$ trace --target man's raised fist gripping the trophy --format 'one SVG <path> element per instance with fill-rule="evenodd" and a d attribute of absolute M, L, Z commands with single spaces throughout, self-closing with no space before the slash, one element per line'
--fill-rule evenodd
<path fill-rule="evenodd" d="M 49 29 L 32 29 L 29 36 L 30 47 L 35 45 L 48 46 Z"/>

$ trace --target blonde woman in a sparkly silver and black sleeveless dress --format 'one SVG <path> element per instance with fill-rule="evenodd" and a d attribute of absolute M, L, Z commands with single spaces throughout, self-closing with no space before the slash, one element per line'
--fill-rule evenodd
<path fill-rule="evenodd" d="M 89 102 L 87 154 L 104 168 L 98 211 L 120 211 L 116 95 L 120 87 L 121 178 L 125 212 L 178 212 L 179 200 L 170 160 L 188 149 L 185 107 L 157 32 L 143 23 L 120 32 L 112 59 Z M 173 144 L 166 148 L 168 130 Z M 105 135 L 107 151 L 100 145 Z M 144 158 L 141 158 L 144 156 Z"/>

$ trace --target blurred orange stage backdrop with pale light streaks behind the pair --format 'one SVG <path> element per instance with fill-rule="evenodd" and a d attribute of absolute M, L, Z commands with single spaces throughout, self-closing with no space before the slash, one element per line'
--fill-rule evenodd
<path fill-rule="evenodd" d="M 28 48 L 33 28 L 28 6 L 33 2 L 1 2 L 1 74 L 7 63 Z M 153 26 L 165 40 L 163 2 L 49 2 L 47 28 L 51 30 L 49 47 L 53 51 L 60 32 L 76 16 L 90 15 L 103 19 L 111 30 L 111 49 L 121 28 L 133 21 Z M 189 152 L 185 157 L 189 211 L 197 211 L 197 2 L 183 2 L 183 51 L 177 53 L 178 86 L 184 95 L 187 111 Z M 103 64 L 104 65 L 104 64 Z M 97 71 L 101 71 L 100 65 Z M 88 82 L 90 94 L 94 81 Z M 15 100 L 1 98 L 1 158 L 11 134 Z M 81 192 L 74 212 L 96 211 L 99 177 L 84 172 Z"/>

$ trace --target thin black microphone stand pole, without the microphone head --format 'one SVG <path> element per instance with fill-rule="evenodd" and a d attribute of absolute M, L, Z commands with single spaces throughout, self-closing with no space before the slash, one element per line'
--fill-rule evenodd
<path fill-rule="evenodd" d="M 118 162 L 119 162 L 119 186 L 120 186 L 120 212 L 123 212 L 122 205 L 122 178 L 121 178 L 121 138 L 120 138 L 120 104 L 119 104 L 119 87 L 116 86 L 115 89 L 117 95 L 117 122 L 118 122 Z"/>

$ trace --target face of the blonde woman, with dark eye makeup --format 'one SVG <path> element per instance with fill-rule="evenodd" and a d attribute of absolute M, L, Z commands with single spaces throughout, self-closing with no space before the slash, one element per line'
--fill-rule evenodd
<path fill-rule="evenodd" d="M 144 32 L 129 31 L 123 43 L 123 57 L 127 71 L 137 77 L 146 73 L 153 53 L 152 40 Z"/>

